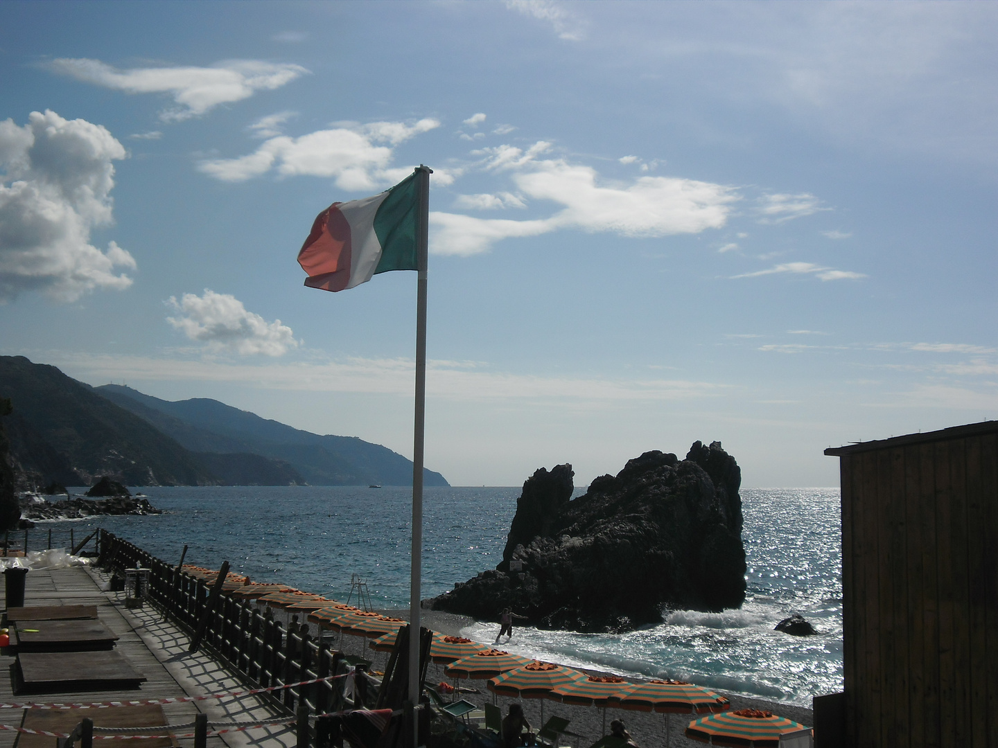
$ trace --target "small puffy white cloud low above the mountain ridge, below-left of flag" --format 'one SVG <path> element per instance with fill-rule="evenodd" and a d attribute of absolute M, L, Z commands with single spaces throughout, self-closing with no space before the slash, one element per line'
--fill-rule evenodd
<path fill-rule="evenodd" d="M 191 340 L 205 343 L 213 351 L 281 356 L 298 346 L 290 327 L 280 324 L 279 319 L 267 322 L 248 311 L 243 302 L 230 293 L 216 293 L 206 288 L 202 296 L 185 293 L 180 301 L 171 296 L 167 304 L 180 313 L 180 316 L 167 317 L 167 321 Z"/>

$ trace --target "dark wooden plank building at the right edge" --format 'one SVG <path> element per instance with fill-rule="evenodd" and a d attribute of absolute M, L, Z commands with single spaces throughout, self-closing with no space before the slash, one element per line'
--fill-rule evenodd
<path fill-rule="evenodd" d="M 998 748 L 998 421 L 824 454 L 841 470 L 845 745 Z"/>

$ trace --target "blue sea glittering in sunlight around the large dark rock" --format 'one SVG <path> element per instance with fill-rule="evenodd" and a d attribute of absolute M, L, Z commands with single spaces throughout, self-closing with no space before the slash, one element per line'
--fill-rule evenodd
<path fill-rule="evenodd" d="M 73 493 L 82 489 L 73 490 Z M 77 542 L 101 527 L 154 556 L 279 581 L 336 599 L 356 599 L 365 582 L 375 607 L 407 607 L 411 490 L 385 487 L 143 488 L 166 514 L 45 522 L 30 548 Z M 427 488 L 422 596 L 451 589 L 502 560 L 519 488 Z M 577 489 L 576 495 L 584 493 Z M 625 634 L 517 627 L 502 648 L 538 659 L 622 675 L 671 677 L 810 707 L 842 689 L 839 490 L 743 489 L 748 594 L 718 613 L 663 611 L 664 622 Z M 796 637 L 773 626 L 792 613 L 818 633 Z M 491 643 L 495 622 L 462 633 Z"/>

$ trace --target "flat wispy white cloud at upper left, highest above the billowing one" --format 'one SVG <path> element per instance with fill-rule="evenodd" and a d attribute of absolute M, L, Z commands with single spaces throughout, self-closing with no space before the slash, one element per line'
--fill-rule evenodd
<path fill-rule="evenodd" d="M 118 70 L 100 60 L 58 59 L 50 67 L 80 81 L 129 94 L 169 94 L 180 105 L 160 115 L 165 122 L 198 117 L 220 104 L 249 99 L 308 73 L 300 65 L 230 60 L 211 68 L 134 68 Z"/>

